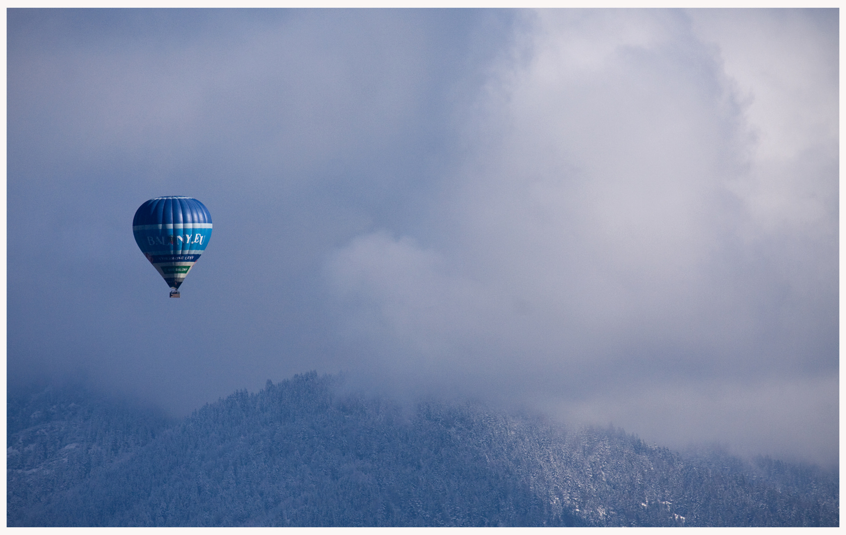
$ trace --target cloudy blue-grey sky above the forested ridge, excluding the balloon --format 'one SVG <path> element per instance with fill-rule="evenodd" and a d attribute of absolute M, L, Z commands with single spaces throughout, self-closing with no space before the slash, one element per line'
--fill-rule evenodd
<path fill-rule="evenodd" d="M 837 10 L 7 17 L 9 385 L 343 371 L 837 462 Z M 162 195 L 214 221 L 179 300 Z"/>

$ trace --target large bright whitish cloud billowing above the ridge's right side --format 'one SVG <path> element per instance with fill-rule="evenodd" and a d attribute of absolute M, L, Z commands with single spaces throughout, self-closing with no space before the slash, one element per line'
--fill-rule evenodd
<path fill-rule="evenodd" d="M 327 264 L 371 366 L 832 462 L 837 412 L 808 415 L 837 400 L 819 387 L 838 366 L 836 13 L 523 22 L 427 231 L 362 235 Z M 761 422 L 800 435 L 773 445 Z"/>

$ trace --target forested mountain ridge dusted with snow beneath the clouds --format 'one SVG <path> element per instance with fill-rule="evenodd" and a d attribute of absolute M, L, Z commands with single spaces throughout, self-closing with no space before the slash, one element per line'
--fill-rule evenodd
<path fill-rule="evenodd" d="M 838 474 L 294 376 L 179 422 L 8 396 L 8 526 L 838 526 Z"/>

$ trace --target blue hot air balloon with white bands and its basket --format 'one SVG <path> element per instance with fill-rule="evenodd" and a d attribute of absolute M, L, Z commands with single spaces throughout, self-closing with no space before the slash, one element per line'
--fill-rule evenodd
<path fill-rule="evenodd" d="M 190 197 L 157 197 L 135 211 L 135 243 L 179 298 L 179 286 L 211 238 L 211 214 Z"/>

